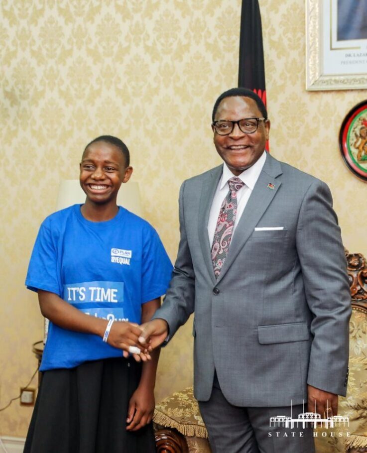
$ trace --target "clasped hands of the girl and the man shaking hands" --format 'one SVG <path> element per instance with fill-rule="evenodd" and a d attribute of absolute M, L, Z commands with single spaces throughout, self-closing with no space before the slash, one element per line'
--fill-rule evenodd
<path fill-rule="evenodd" d="M 137 362 L 145 362 L 151 359 L 150 352 L 163 343 L 168 333 L 167 322 L 160 318 L 141 326 L 129 322 L 109 322 L 103 339 L 111 346 L 122 349 L 124 357 L 131 353 Z"/>

